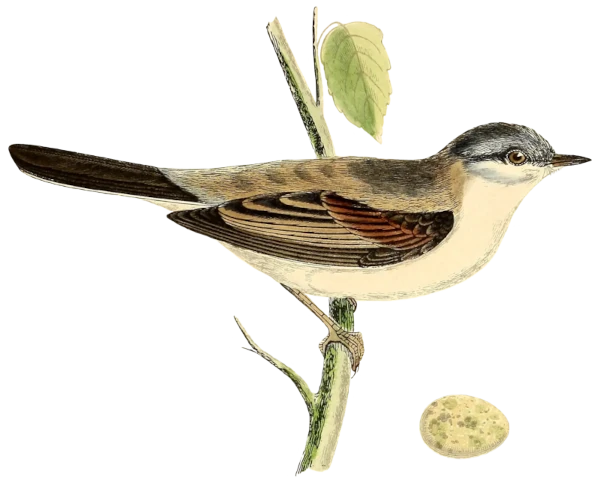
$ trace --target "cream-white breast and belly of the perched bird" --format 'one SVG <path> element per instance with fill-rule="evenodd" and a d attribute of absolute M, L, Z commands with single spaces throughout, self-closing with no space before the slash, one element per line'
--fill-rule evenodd
<path fill-rule="evenodd" d="M 448 237 L 422 257 L 386 268 L 326 268 L 221 243 L 248 267 L 279 284 L 321 298 L 353 297 L 390 303 L 430 296 L 472 279 L 490 265 L 516 210 L 536 183 L 506 186 L 469 180 L 463 207 Z"/>

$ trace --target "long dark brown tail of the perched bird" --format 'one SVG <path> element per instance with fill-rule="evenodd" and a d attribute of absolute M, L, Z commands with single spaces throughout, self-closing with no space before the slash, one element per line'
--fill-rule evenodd
<path fill-rule="evenodd" d="M 11 144 L 8 152 L 23 174 L 49 183 L 132 198 L 198 201 L 155 166 L 30 144 Z"/>

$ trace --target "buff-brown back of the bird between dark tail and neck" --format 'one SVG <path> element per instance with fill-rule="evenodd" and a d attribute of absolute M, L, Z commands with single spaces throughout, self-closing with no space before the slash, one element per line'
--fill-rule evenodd
<path fill-rule="evenodd" d="M 460 204 L 464 171 L 443 158 L 286 159 L 199 169 L 162 169 L 204 203 L 275 193 L 333 191 L 382 210 L 441 211 Z"/>

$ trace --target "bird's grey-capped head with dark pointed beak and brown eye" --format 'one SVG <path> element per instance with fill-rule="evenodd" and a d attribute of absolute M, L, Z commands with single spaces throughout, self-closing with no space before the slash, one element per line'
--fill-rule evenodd
<path fill-rule="evenodd" d="M 539 131 L 525 124 L 498 121 L 481 124 L 455 137 L 445 156 L 460 159 L 472 176 L 505 184 L 536 184 L 565 167 L 590 158 L 558 153 Z"/>

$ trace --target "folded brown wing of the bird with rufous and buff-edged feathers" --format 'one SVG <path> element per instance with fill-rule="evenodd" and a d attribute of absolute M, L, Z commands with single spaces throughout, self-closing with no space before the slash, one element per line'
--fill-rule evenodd
<path fill-rule="evenodd" d="M 284 193 L 176 211 L 177 225 L 265 255 L 381 267 L 419 257 L 450 232 L 452 212 L 378 211 L 331 192 Z"/>

